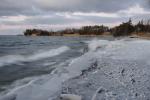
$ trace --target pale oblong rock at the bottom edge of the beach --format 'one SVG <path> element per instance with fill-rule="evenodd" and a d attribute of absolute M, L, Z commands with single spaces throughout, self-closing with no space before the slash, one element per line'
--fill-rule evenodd
<path fill-rule="evenodd" d="M 74 95 L 74 94 L 61 94 L 61 100 L 82 100 L 81 96 Z"/>

